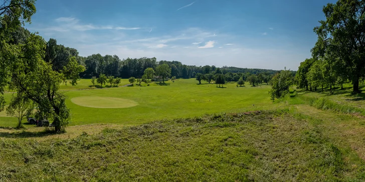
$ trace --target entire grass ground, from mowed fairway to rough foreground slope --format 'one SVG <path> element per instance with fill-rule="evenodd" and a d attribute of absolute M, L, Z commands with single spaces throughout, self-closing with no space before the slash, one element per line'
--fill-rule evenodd
<path fill-rule="evenodd" d="M 0 115 L 0 181 L 365 180 L 365 111 L 350 85 L 272 102 L 270 85 L 196 83 L 69 89 L 61 134 Z"/>

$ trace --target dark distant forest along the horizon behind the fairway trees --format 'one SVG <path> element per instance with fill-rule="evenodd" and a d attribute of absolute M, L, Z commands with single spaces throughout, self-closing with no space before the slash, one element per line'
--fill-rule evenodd
<path fill-rule="evenodd" d="M 15 31 L 13 35 L 14 43 L 25 42 L 27 37 L 29 37 L 31 32 L 28 29 L 20 27 Z M 46 42 L 46 53 L 45 60 L 47 62 L 52 62 L 55 70 L 61 70 L 69 62 L 69 58 L 74 56 L 79 64 L 85 66 L 86 70 L 80 73 L 83 78 L 91 78 L 92 76 L 98 77 L 100 74 L 105 74 L 107 76 L 115 76 L 121 78 L 136 77 L 140 78 L 143 75 L 143 71 L 152 67 L 156 68 L 157 65 L 166 63 L 171 67 L 171 77 L 176 76 L 176 78 L 192 78 L 195 77 L 197 73 L 207 74 L 215 72 L 216 66 L 205 65 L 186 65 L 182 64 L 180 61 L 167 61 L 160 60 L 157 61 L 156 57 L 141 57 L 141 58 L 125 58 L 120 59 L 117 55 L 101 55 L 99 53 L 92 54 L 89 56 L 80 56 L 79 52 L 75 48 L 66 47 L 61 44 L 57 44 L 57 40 L 50 38 Z M 278 70 L 272 69 L 259 69 L 259 68 L 241 68 L 233 66 L 223 66 L 220 67 L 223 74 L 232 73 L 244 73 L 246 77 L 250 74 L 275 74 Z M 295 71 L 293 71 L 295 74 Z"/>

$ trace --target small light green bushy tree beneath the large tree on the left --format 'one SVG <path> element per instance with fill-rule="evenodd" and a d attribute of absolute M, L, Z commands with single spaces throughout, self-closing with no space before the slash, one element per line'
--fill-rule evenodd
<path fill-rule="evenodd" d="M 12 99 L 7 106 L 7 115 L 17 117 L 18 125 L 17 128 L 22 127 L 22 120 L 26 119 L 27 116 L 31 115 L 34 109 L 33 101 L 28 99 L 26 96 L 21 94 L 14 94 Z"/>

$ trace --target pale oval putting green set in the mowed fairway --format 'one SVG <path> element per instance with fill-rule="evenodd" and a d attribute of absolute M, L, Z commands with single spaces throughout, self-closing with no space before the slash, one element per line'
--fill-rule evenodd
<path fill-rule="evenodd" d="M 133 100 L 108 96 L 79 96 L 71 98 L 71 101 L 77 105 L 94 108 L 126 108 L 138 105 L 138 102 Z"/>

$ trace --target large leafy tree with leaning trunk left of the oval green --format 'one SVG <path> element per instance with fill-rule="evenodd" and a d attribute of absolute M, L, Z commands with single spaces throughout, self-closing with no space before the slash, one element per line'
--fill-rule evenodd
<path fill-rule="evenodd" d="M 53 64 L 44 60 L 46 41 L 31 33 L 21 47 L 16 61 L 10 66 L 9 88 L 36 103 L 40 112 L 53 119 L 55 131 L 60 131 L 70 119 L 70 111 L 65 104 L 65 95 L 59 91 L 61 83 L 70 81 L 75 85 L 79 73 L 84 70 L 75 57 L 69 57 L 66 65 L 54 70 Z"/>

